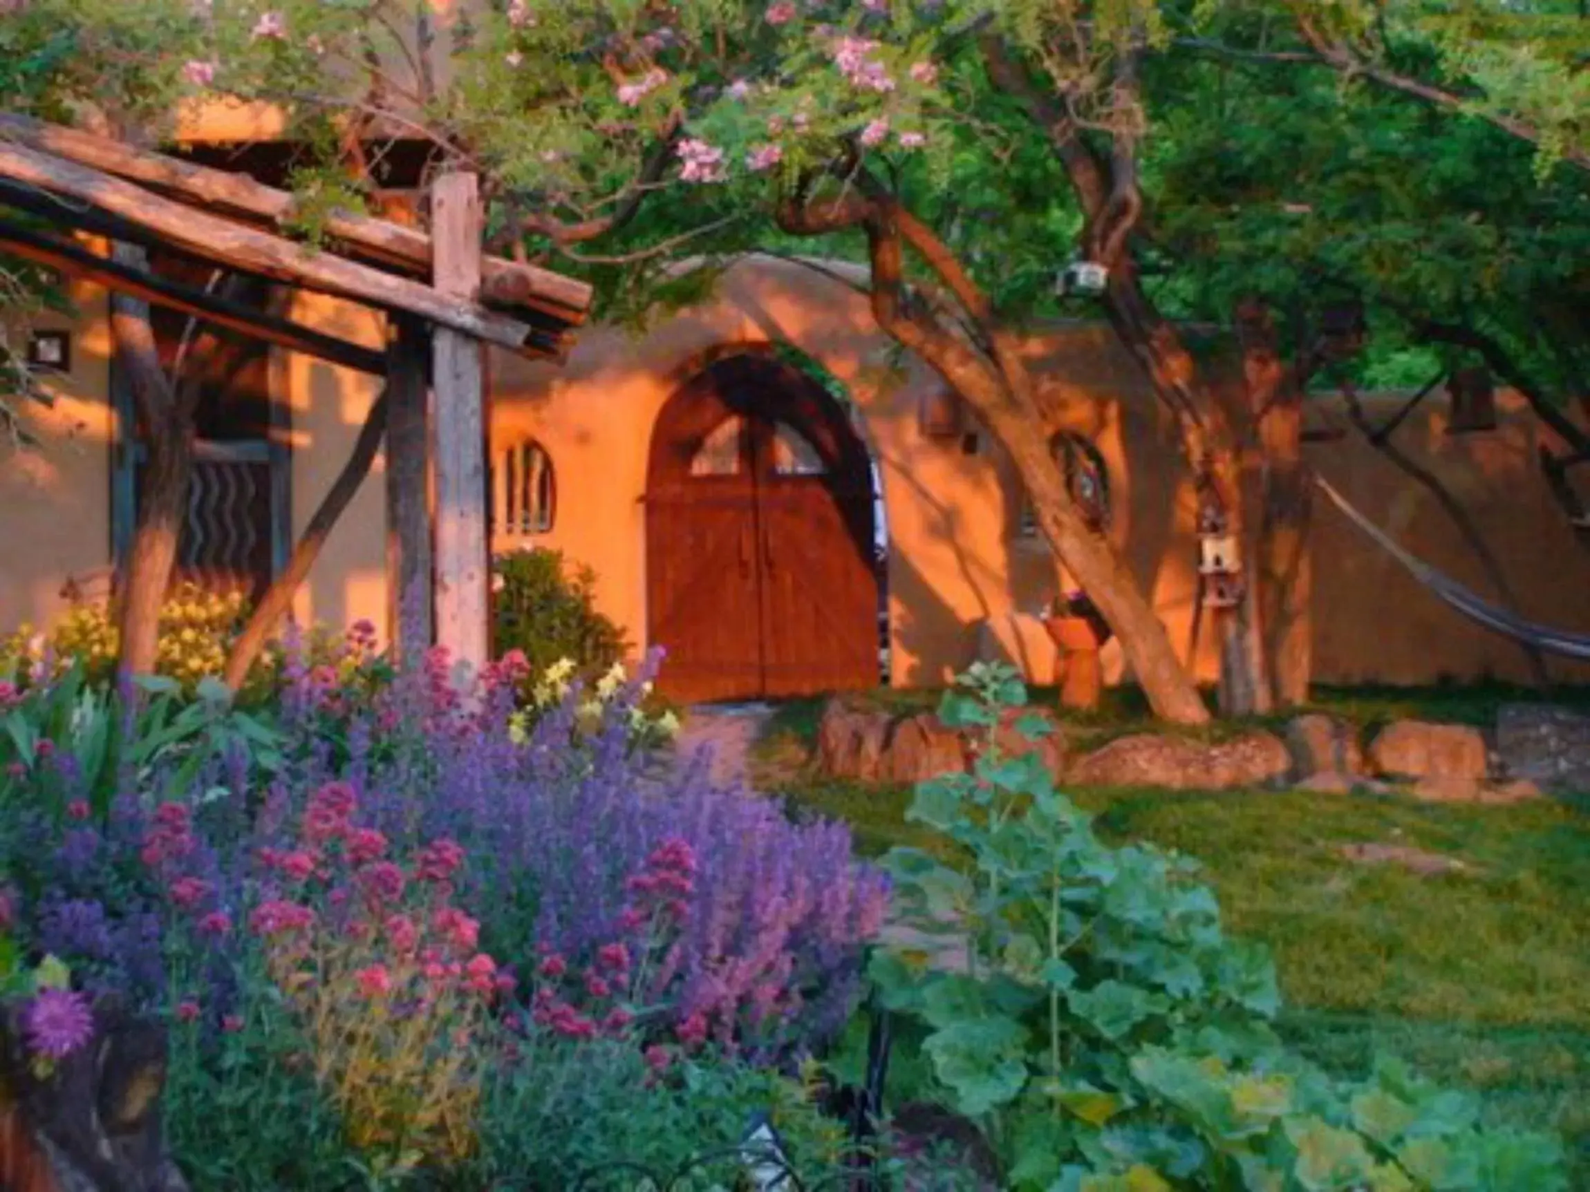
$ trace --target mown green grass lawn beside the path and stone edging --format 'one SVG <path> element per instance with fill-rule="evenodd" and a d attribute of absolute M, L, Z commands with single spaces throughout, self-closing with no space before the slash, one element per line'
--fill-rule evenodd
<path fill-rule="evenodd" d="M 930 698 L 881 696 L 909 702 Z M 1393 715 L 1483 723 L 1483 704 L 1348 693 L 1355 720 Z M 1455 712 L 1453 712 L 1455 709 Z M 1129 717 L 1099 717 L 1118 734 Z M 909 791 L 825 780 L 803 768 L 811 704 L 782 709 L 760 745 L 765 788 L 847 820 L 881 853 L 925 844 L 905 823 Z M 1126 730 L 1132 731 L 1132 730 Z M 1507 807 L 1267 791 L 1073 790 L 1113 839 L 1200 858 L 1231 931 L 1262 939 L 1286 993 L 1283 1031 L 1342 1074 L 1399 1054 L 1485 1098 L 1493 1120 L 1553 1127 L 1590 1189 L 1590 814 L 1541 801 Z M 1456 858 L 1418 876 L 1345 860 L 1345 844 L 1407 846 Z M 906 1065 L 909 1071 L 909 1062 Z"/>

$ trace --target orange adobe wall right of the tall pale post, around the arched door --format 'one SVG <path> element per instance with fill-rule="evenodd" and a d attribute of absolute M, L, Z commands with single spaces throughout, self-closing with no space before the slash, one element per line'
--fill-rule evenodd
<path fill-rule="evenodd" d="M 566 550 L 598 574 L 604 610 L 646 644 L 644 488 L 650 428 L 661 404 L 725 345 L 793 343 L 833 372 L 862 408 L 881 466 L 890 556 L 889 596 L 897 683 L 940 683 L 979 652 L 978 623 L 1030 612 L 1056 579 L 1041 542 L 1016 536 L 1016 488 L 997 453 L 965 456 L 917 432 L 932 373 L 887 367 L 889 342 L 865 300 L 798 264 L 758 261 L 731 270 L 717 300 L 631 339 L 591 329 L 564 369 L 494 359 L 493 435 L 536 437 L 558 478 L 558 520 L 534 542 Z M 1192 494 L 1173 429 L 1130 358 L 1102 326 L 1059 329 L 1034 345 L 1056 429 L 1092 437 L 1103 451 L 1116 509 L 1111 537 L 1186 653 L 1192 642 Z M 1380 416 L 1399 397 L 1372 397 Z M 1530 617 L 1590 631 L 1590 553 L 1580 547 L 1534 466 L 1538 426 L 1504 394 L 1503 424 L 1447 435 L 1429 399 L 1398 443 L 1448 485 L 1498 555 Z M 1310 421 L 1345 426 L 1320 402 Z M 986 440 L 984 440 L 986 442 Z M 1310 459 L 1371 517 L 1431 564 L 1493 598 L 1485 572 L 1434 496 L 1409 482 L 1356 434 L 1309 448 Z M 1439 604 L 1393 561 L 1318 502 L 1315 660 L 1323 682 L 1433 682 L 1487 674 L 1526 679 L 1517 647 Z M 499 540 L 498 547 L 514 545 Z M 1006 639 L 1008 633 L 1003 634 Z M 1212 634 L 1200 634 L 1199 672 L 1216 675 Z M 666 645 L 666 642 L 665 642 Z M 1053 650 L 1029 636 L 1018 661 L 1046 679 Z M 1118 648 L 1107 674 L 1119 680 Z M 1561 677 L 1590 677 L 1553 663 Z"/>

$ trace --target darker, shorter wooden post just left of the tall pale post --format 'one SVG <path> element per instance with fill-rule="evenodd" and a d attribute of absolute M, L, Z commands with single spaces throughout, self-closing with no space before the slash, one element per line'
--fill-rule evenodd
<path fill-rule="evenodd" d="M 431 428 L 425 324 L 398 319 L 386 350 L 386 633 L 393 656 L 431 648 Z"/>

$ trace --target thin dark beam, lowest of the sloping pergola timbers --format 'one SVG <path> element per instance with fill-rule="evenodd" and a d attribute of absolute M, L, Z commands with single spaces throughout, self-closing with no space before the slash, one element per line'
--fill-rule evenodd
<path fill-rule="evenodd" d="M 176 281 L 140 273 L 138 270 L 97 256 L 70 240 L 40 235 L 5 219 L 0 219 L 0 251 L 13 253 L 62 273 L 70 273 L 118 294 L 129 294 L 145 302 L 153 302 L 157 307 L 180 310 L 205 323 L 273 343 L 288 351 L 302 351 L 307 356 L 340 364 L 345 369 L 356 369 L 358 372 L 374 375 L 386 372 L 386 361 L 378 351 L 370 351 L 358 343 L 326 335 L 324 332 L 313 331 L 291 319 L 267 315 L 238 302 L 229 302 L 219 294 L 210 294 Z"/>

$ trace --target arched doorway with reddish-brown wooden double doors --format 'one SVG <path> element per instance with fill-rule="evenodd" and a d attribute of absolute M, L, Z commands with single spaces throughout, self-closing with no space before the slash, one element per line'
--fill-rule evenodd
<path fill-rule="evenodd" d="M 658 415 L 646 501 L 665 693 L 704 702 L 876 685 L 871 466 L 820 385 L 768 356 L 709 366 Z"/>

